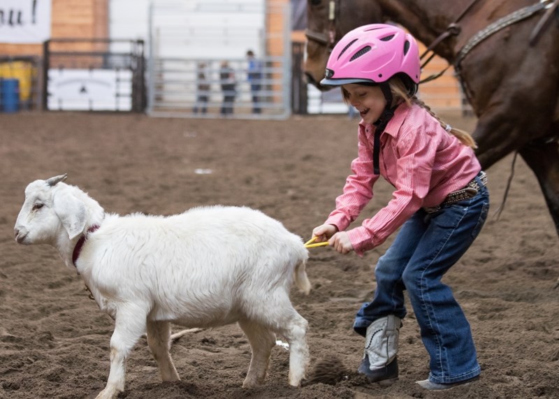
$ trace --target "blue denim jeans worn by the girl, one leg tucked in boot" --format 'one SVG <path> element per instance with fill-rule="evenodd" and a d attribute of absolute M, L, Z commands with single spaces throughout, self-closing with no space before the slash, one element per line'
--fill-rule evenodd
<path fill-rule="evenodd" d="M 431 382 L 460 382 L 480 373 L 470 324 L 441 279 L 472 245 L 488 209 L 489 194 L 482 187 L 476 196 L 437 212 L 418 210 L 379 259 L 375 296 L 356 315 L 354 329 L 363 336 L 380 317 L 394 314 L 403 319 L 407 290 L 430 356 Z"/>

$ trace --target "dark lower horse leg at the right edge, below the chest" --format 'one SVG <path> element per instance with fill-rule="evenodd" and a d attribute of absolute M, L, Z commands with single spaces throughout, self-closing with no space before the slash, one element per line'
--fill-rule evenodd
<path fill-rule="evenodd" d="M 526 164 L 534 171 L 542 187 L 547 208 L 559 234 L 559 143 L 536 142 L 519 150 Z"/>

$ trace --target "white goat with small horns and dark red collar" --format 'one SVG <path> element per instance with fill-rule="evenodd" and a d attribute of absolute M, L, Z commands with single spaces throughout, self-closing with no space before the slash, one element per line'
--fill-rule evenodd
<path fill-rule="evenodd" d="M 140 336 L 163 381 L 179 376 L 169 354 L 169 323 L 214 327 L 238 322 L 252 348 L 242 386 L 263 383 L 275 333 L 289 342 L 289 384 L 305 377 L 307 321 L 293 309 L 293 280 L 305 293 L 303 241 L 249 208 L 194 208 L 169 217 L 106 214 L 66 175 L 36 180 L 14 232 L 20 244 L 57 248 L 97 305 L 115 319 L 110 374 L 97 398 L 124 391 L 126 356 Z"/>

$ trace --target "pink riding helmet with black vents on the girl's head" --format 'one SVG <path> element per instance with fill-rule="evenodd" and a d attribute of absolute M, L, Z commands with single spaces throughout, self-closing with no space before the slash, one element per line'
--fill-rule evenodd
<path fill-rule="evenodd" d="M 394 25 L 370 24 L 349 31 L 335 45 L 320 84 L 381 83 L 400 74 L 415 92 L 419 69 L 419 48 L 412 35 Z"/>

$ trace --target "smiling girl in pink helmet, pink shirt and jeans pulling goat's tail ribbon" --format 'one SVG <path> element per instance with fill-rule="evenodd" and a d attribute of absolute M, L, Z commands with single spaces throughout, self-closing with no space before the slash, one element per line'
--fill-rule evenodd
<path fill-rule="evenodd" d="M 417 43 L 398 27 L 366 25 L 337 43 L 321 84 L 341 86 L 344 99 L 360 113 L 358 157 L 336 209 L 312 233 L 337 252 L 361 256 L 401 226 L 375 268 L 372 302 L 356 315 L 354 329 L 365 337 L 358 371 L 384 385 L 398 379 L 407 290 L 430 356 L 428 379 L 417 383 L 438 390 L 479 378 L 470 324 L 441 279 L 478 235 L 489 196 L 472 138 L 414 96 L 419 73 Z M 391 201 L 347 230 L 372 198 L 380 175 L 395 187 Z"/>

